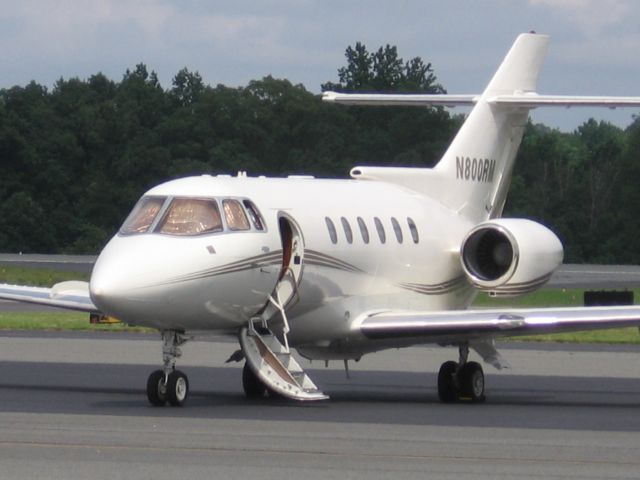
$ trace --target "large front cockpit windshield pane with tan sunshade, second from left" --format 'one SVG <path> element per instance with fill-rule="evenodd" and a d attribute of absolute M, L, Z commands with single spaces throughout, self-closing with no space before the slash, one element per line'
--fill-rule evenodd
<path fill-rule="evenodd" d="M 200 235 L 222 231 L 220 210 L 214 199 L 174 198 L 156 232 Z"/>

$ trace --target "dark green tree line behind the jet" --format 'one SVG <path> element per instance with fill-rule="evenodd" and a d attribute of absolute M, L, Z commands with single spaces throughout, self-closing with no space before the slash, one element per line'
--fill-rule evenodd
<path fill-rule="evenodd" d="M 432 66 L 357 43 L 323 89 L 444 93 Z M 271 76 L 211 86 L 144 64 L 0 90 L 0 251 L 97 253 L 151 186 L 202 173 L 345 177 L 354 165 L 432 166 L 461 125 L 441 108 L 336 107 Z M 640 120 L 572 133 L 529 124 L 506 216 L 549 225 L 566 261 L 640 263 Z M 640 232 L 639 232 L 640 233 Z"/>

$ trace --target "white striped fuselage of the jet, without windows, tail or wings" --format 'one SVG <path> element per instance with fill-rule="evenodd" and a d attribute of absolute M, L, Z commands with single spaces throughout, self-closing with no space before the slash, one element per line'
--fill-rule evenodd
<path fill-rule="evenodd" d="M 354 321 L 372 311 L 466 308 L 474 289 L 459 246 L 473 224 L 435 200 L 401 186 L 358 180 L 190 177 L 146 195 L 251 200 L 263 232 L 193 237 L 116 235 L 101 253 L 91 294 L 105 313 L 159 329 L 236 332 L 267 302 L 282 266 L 279 217 L 295 222 L 303 241 L 298 296 L 287 309 L 293 346 L 358 356 Z M 326 223 L 336 229 L 333 243 Z M 369 243 L 361 234 L 364 221 Z M 379 218 L 386 241 L 374 223 Z M 342 219 L 352 230 L 347 241 Z M 400 243 L 392 225 L 402 230 Z M 419 240 L 414 242 L 411 218 Z M 270 326 L 280 323 L 274 317 Z M 362 345 L 371 350 L 371 342 Z M 379 347 L 378 347 L 379 348 Z M 330 354 L 328 354 L 331 356 Z M 338 355 L 340 356 L 340 355 Z"/>

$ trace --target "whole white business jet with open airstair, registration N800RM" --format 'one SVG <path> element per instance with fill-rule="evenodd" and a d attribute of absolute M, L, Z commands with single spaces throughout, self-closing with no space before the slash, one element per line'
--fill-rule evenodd
<path fill-rule="evenodd" d="M 484 93 L 376 95 L 327 92 L 372 105 L 473 105 L 434 168 L 356 167 L 350 180 L 203 175 L 146 192 L 100 254 L 90 282 L 51 289 L 0 285 L 0 298 L 101 313 L 162 333 L 153 405 L 182 405 L 175 368 L 199 332 L 237 336 L 247 396 L 327 396 L 307 359 L 358 360 L 388 348 L 458 349 L 438 374 L 444 402 L 485 398 L 469 361 L 507 366 L 503 336 L 640 325 L 640 307 L 468 310 L 478 292 L 541 287 L 562 262 L 554 233 L 501 218 L 529 110 L 560 105 L 640 106 L 640 98 L 547 96 L 536 81 L 548 38 L 523 34 Z"/>

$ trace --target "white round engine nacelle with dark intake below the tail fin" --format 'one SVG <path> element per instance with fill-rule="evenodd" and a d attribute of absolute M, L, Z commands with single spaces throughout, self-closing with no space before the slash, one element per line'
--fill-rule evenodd
<path fill-rule="evenodd" d="M 473 285 L 495 296 L 529 293 L 562 263 L 558 237 L 531 220 L 499 218 L 474 227 L 460 247 L 462 268 Z"/>

